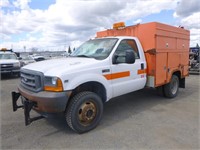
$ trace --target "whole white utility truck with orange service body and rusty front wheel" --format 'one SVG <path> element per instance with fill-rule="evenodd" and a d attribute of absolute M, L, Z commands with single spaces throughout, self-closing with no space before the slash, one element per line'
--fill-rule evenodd
<path fill-rule="evenodd" d="M 26 125 L 48 113 L 64 113 L 66 124 L 84 133 L 98 125 L 103 104 L 114 97 L 152 87 L 173 98 L 185 88 L 189 35 L 157 22 L 116 23 L 67 58 L 22 67 L 18 92 L 12 92 L 13 111 L 24 109 Z M 32 109 L 41 115 L 32 118 Z"/>

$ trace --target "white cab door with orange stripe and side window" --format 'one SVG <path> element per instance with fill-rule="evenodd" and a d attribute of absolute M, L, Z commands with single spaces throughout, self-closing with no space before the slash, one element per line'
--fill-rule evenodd
<path fill-rule="evenodd" d="M 135 63 L 127 64 L 125 57 L 117 57 L 117 64 L 111 65 L 113 97 L 142 89 L 146 84 L 146 63 L 134 39 L 122 40 L 114 55 L 125 56 L 126 50 L 134 51 Z"/>

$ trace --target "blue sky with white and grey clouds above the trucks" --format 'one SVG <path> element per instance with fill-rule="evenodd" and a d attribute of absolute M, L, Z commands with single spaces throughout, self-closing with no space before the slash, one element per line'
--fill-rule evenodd
<path fill-rule="evenodd" d="M 183 26 L 200 45 L 199 0 L 0 0 L 0 48 L 66 50 L 121 21 Z"/>

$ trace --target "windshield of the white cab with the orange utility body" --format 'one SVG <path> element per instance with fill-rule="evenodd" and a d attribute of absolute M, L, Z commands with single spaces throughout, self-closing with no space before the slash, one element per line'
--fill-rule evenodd
<path fill-rule="evenodd" d="M 112 51 L 117 38 L 94 39 L 83 43 L 70 56 L 105 59 Z"/>

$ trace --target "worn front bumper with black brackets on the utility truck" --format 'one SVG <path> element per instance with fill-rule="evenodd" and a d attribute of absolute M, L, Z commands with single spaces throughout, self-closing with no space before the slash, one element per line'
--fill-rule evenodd
<path fill-rule="evenodd" d="M 38 92 L 33 93 L 27 91 L 22 86 L 18 87 L 18 92 L 12 92 L 12 106 L 13 111 L 17 111 L 19 108 L 24 109 L 25 125 L 29 125 L 31 122 L 38 119 L 42 119 L 45 116 L 41 115 L 38 117 L 31 118 L 30 111 L 34 109 L 40 114 L 46 113 L 59 113 L 64 112 L 70 91 L 67 92 Z M 18 105 L 17 101 L 21 97 L 22 104 Z"/>

